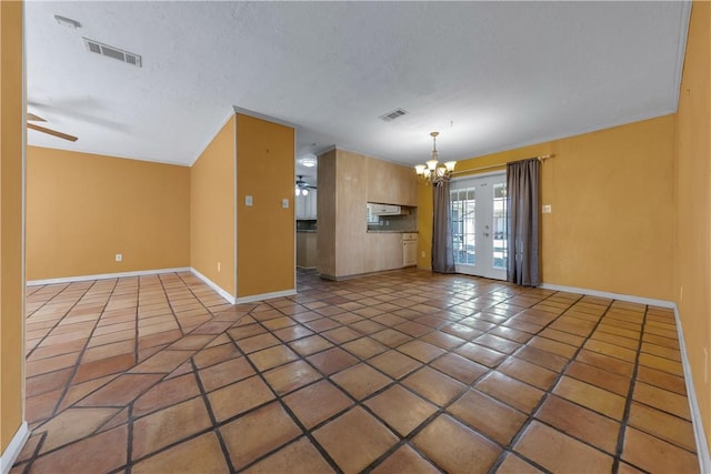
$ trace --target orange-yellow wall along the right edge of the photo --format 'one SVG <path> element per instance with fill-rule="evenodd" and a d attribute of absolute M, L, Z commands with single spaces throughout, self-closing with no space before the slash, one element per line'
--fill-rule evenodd
<path fill-rule="evenodd" d="M 711 345 L 711 4 L 694 1 L 677 113 L 674 300 L 711 441 L 704 350 Z M 682 296 L 683 289 L 683 296 Z"/>

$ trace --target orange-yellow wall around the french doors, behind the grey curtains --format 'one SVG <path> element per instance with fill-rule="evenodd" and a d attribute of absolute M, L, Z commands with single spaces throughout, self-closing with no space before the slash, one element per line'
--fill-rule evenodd
<path fill-rule="evenodd" d="M 541 219 L 543 282 L 671 301 L 673 147 L 674 115 L 665 115 L 464 160 L 457 169 L 553 153 L 541 167 L 541 204 L 552 206 Z M 420 193 L 421 202 L 431 200 L 431 189 Z M 418 216 L 427 244 L 432 221 L 424 214 Z"/>

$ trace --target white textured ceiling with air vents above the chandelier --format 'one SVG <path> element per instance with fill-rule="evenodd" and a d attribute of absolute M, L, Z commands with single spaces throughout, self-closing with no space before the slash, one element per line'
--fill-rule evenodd
<path fill-rule="evenodd" d="M 29 143 L 191 164 L 239 107 L 297 125 L 298 155 L 337 145 L 414 164 L 437 130 L 441 159 L 471 158 L 674 112 L 689 11 L 30 0 L 28 109 L 79 141 L 29 131 Z M 143 67 L 90 53 L 82 37 L 141 54 Z M 395 108 L 409 114 L 379 119 Z"/>

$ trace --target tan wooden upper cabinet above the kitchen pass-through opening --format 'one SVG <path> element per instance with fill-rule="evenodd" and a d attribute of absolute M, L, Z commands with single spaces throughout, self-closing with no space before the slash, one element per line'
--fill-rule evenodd
<path fill-rule="evenodd" d="M 418 205 L 418 179 L 410 167 L 368 160 L 368 201 Z"/>

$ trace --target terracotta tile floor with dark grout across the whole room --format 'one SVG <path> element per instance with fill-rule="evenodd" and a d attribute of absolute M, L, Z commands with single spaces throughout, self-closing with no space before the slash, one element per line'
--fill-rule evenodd
<path fill-rule="evenodd" d="M 403 270 L 28 288 L 19 473 L 698 472 L 673 313 Z"/>

